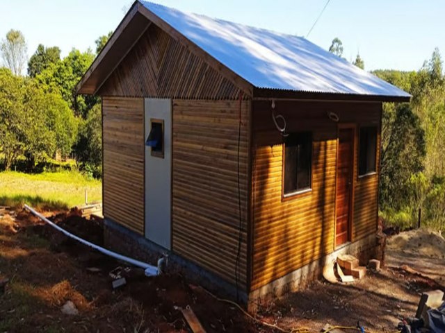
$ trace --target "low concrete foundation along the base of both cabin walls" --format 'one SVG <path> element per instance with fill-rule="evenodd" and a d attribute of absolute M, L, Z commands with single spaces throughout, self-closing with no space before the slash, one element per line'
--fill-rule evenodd
<path fill-rule="evenodd" d="M 160 257 L 168 255 L 168 273 L 180 273 L 186 276 L 188 281 L 199 284 L 220 297 L 236 300 L 234 285 L 110 219 L 104 220 L 104 241 L 108 248 L 154 266 Z M 366 266 L 369 259 L 375 257 L 376 253 L 378 253 L 378 239 L 375 234 L 372 234 L 352 244 L 346 244 L 333 253 L 298 268 L 259 289 L 250 291 L 250 293 L 239 291 L 238 297 L 242 304 L 247 305 L 249 311 L 255 312 L 261 305 L 266 305 L 274 298 L 303 289 L 309 282 L 320 279 L 325 264 L 335 262 L 338 255 L 354 255 L 359 258 L 359 264 Z"/>

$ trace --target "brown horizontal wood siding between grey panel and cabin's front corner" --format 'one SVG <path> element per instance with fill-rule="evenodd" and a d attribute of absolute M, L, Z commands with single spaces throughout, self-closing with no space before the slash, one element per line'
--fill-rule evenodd
<path fill-rule="evenodd" d="M 239 284 L 245 288 L 248 232 L 248 113 L 241 111 L 242 246 Z M 172 249 L 235 282 L 238 249 L 239 101 L 173 103 Z"/>

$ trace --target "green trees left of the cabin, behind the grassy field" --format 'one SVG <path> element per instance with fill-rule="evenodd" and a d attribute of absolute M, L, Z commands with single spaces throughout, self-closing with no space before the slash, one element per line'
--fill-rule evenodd
<path fill-rule="evenodd" d="M 99 53 L 111 33 L 96 40 Z M 26 56 L 20 31 L 11 30 L 0 44 L 0 162 L 11 169 L 24 161 L 72 156 L 81 169 L 100 176 L 102 123 L 99 99 L 76 95 L 76 84 L 96 54 L 72 49 L 60 58 L 58 46 L 40 44 Z M 24 69 L 27 61 L 27 76 Z M 1 157 L 3 160 L 1 161 Z"/>

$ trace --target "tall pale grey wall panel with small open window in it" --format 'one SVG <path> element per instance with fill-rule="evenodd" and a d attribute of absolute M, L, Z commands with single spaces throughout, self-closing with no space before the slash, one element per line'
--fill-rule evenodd
<path fill-rule="evenodd" d="M 145 237 L 169 250 L 171 168 L 172 101 L 145 99 Z"/>

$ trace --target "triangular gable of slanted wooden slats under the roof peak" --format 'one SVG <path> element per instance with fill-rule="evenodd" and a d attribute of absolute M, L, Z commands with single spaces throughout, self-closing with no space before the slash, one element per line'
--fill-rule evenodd
<path fill-rule="evenodd" d="M 180 42 L 150 25 L 99 95 L 236 99 L 240 89 Z"/>

